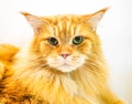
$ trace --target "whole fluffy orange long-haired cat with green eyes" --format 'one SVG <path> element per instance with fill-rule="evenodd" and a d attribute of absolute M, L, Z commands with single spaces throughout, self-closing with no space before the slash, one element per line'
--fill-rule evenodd
<path fill-rule="evenodd" d="M 0 51 L 0 104 L 124 104 L 109 89 L 96 33 L 107 10 L 53 17 L 22 12 L 34 37 L 25 48 L 9 50 L 12 55 L 7 48 Z"/>

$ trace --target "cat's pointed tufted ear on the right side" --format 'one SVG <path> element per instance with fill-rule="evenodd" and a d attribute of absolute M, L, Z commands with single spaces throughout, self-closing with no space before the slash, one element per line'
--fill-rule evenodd
<path fill-rule="evenodd" d="M 92 14 L 84 15 L 81 18 L 81 21 L 90 24 L 91 29 L 95 31 L 97 29 L 98 23 L 100 22 L 100 20 L 102 19 L 103 14 L 106 13 L 106 11 L 109 8 L 105 8 L 105 9 L 99 10 Z"/>

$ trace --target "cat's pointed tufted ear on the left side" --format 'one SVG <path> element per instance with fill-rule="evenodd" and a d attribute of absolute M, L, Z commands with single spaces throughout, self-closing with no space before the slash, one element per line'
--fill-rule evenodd
<path fill-rule="evenodd" d="M 28 12 L 21 12 L 21 13 L 26 18 L 28 22 L 34 29 L 35 32 L 37 32 L 41 29 L 41 27 L 43 27 L 44 24 L 48 24 L 48 21 L 44 19 L 42 20 L 40 17 L 35 17 Z"/>

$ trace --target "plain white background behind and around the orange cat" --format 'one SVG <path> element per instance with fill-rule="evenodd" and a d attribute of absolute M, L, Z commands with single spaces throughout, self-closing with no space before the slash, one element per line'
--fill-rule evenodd
<path fill-rule="evenodd" d="M 110 7 L 98 27 L 114 93 L 132 104 L 132 0 L 0 0 L 0 43 L 22 46 L 33 35 L 20 11 L 36 15 L 91 13 Z"/>

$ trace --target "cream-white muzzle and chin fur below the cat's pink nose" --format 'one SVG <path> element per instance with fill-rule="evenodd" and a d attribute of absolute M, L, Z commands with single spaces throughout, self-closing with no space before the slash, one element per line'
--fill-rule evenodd
<path fill-rule="evenodd" d="M 72 56 L 66 60 L 57 56 L 56 59 L 48 58 L 47 64 L 61 72 L 72 72 L 84 65 L 86 60 L 85 55 L 79 56 L 78 59 L 72 59 Z"/>

